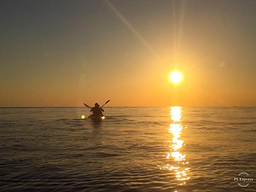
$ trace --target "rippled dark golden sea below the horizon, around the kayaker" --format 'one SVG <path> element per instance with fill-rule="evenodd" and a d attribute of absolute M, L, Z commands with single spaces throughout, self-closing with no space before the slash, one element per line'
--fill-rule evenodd
<path fill-rule="evenodd" d="M 0 108 L 0 191 L 256 191 L 256 108 L 105 111 Z"/>

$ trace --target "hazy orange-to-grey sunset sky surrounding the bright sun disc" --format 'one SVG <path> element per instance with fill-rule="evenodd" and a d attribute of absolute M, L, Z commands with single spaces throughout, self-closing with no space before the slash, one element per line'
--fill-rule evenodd
<path fill-rule="evenodd" d="M 0 107 L 256 106 L 256 1 L 0 3 Z"/>

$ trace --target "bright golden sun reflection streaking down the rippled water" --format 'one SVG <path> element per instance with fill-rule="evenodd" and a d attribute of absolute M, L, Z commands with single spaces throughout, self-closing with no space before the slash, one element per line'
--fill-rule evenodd
<path fill-rule="evenodd" d="M 173 122 L 170 124 L 168 131 L 172 134 L 173 138 L 172 141 L 169 141 L 172 145 L 169 146 L 171 149 L 170 153 L 167 153 L 166 158 L 173 159 L 174 163 L 172 163 L 172 165 L 167 164 L 163 168 L 174 171 L 177 180 L 181 181 L 179 185 L 184 185 L 186 184 L 186 180 L 189 179 L 187 175 L 189 167 L 188 162 L 186 161 L 186 154 L 180 153 L 180 149 L 185 145 L 183 144 L 183 140 L 180 139 L 183 130 L 183 126 L 181 124 L 182 108 L 171 107 L 170 115 Z"/>

